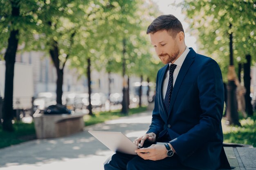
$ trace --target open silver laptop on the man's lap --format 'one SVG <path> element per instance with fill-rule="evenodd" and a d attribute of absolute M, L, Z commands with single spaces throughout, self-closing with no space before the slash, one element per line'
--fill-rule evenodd
<path fill-rule="evenodd" d="M 108 131 L 88 131 L 96 139 L 101 141 L 102 144 L 107 146 L 113 152 L 122 152 L 130 155 L 137 155 L 134 152 L 138 149 L 126 135 L 122 132 L 108 132 Z"/>

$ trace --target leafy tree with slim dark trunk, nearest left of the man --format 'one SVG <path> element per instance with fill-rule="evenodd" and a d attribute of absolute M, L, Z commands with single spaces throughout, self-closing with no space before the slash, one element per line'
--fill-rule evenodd
<path fill-rule="evenodd" d="M 120 10 L 116 12 L 115 18 L 108 22 L 115 37 L 119 52 L 122 52 L 122 75 L 123 75 L 123 107 L 122 113 L 128 112 L 128 78 L 130 75 L 145 74 L 143 69 L 147 67 L 145 61 L 149 60 L 151 53 L 149 43 L 146 38 L 146 28 L 150 23 L 151 15 L 155 15 L 157 10 L 151 2 L 146 1 L 120 1 Z M 152 10 L 148 10 L 152 9 Z M 121 46 L 122 45 L 122 46 Z M 117 58 L 118 59 L 118 58 Z M 151 63 L 149 64 L 151 65 Z M 140 69 L 137 69 L 140 68 Z M 140 97 L 141 98 L 141 97 Z M 140 101 L 141 102 L 141 101 Z"/>

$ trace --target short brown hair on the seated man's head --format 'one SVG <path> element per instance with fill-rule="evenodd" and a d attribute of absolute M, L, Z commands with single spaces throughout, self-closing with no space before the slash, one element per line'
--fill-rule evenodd
<path fill-rule="evenodd" d="M 175 38 L 180 31 L 184 33 L 181 22 L 175 16 L 160 15 L 148 26 L 147 34 L 164 30 L 168 31 L 173 38 Z"/>

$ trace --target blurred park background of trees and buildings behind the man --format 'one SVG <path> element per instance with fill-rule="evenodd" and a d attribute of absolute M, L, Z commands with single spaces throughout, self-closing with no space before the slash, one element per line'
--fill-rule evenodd
<path fill-rule="evenodd" d="M 36 110 L 56 104 L 90 116 L 152 108 L 163 64 L 146 29 L 162 14 L 220 65 L 226 123 L 254 125 L 253 0 L 0 0 L 0 130 L 33 124 Z"/>

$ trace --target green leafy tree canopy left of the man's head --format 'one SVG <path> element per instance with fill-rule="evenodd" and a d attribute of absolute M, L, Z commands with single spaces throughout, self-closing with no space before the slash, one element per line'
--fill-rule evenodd
<path fill-rule="evenodd" d="M 68 64 L 79 75 L 86 75 L 88 57 L 93 68 L 114 73 L 122 73 L 125 57 L 128 75 L 143 74 L 152 80 L 162 66 L 158 58 L 152 57 L 155 52 L 146 35 L 147 26 L 159 15 L 151 1 L 18 1 L 20 16 L 13 18 L 10 1 L 0 0 L 0 51 L 7 47 L 10 31 L 18 28 L 21 50 L 48 54 L 56 42 L 59 67 L 70 58 Z"/>

